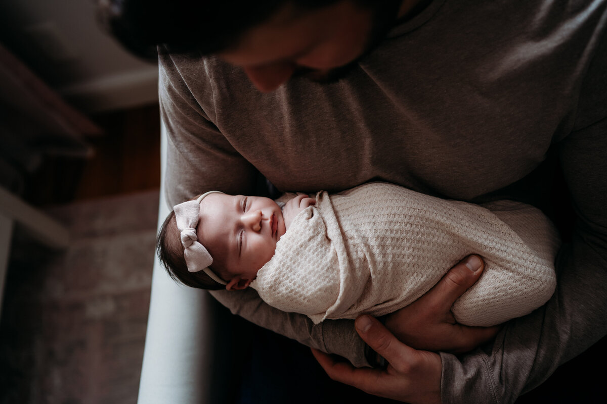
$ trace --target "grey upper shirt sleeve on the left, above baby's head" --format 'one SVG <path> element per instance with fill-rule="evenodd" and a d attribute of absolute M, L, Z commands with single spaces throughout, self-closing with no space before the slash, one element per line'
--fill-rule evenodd
<path fill-rule="evenodd" d="M 204 69 L 159 48 L 160 113 L 167 132 L 166 197 L 173 206 L 209 190 L 253 194 L 257 171 L 213 123 L 213 87 Z M 204 64 L 205 61 L 198 64 Z M 204 66 L 203 66 L 204 67 Z M 197 93 L 186 82 L 196 74 Z M 210 101 L 209 101 L 210 100 Z"/>

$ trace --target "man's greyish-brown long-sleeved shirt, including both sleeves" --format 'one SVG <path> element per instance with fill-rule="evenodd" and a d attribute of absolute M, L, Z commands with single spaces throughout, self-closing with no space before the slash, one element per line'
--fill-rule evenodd
<path fill-rule="evenodd" d="M 345 79 L 297 78 L 269 94 L 215 58 L 160 49 L 169 204 L 206 190 L 251 193 L 257 170 L 280 191 L 384 180 L 468 202 L 538 204 L 554 176 L 543 162 L 557 156 L 577 225 L 563 235 L 555 295 L 489 347 L 441 354 L 443 402 L 514 402 L 607 334 L 606 9 L 435 0 Z M 254 323 L 367 364 L 351 320 L 312 326 L 258 304 L 253 290 L 213 295 Z"/>

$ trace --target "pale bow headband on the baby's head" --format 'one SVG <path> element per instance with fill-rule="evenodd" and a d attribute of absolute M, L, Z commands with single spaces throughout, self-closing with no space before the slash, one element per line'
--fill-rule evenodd
<path fill-rule="evenodd" d="M 196 200 L 188 200 L 179 205 L 175 205 L 175 220 L 177 228 L 181 233 L 181 245 L 183 245 L 183 256 L 186 259 L 186 266 L 190 272 L 198 272 L 200 270 L 205 273 L 215 282 L 226 285 L 226 282 L 209 268 L 213 263 L 213 258 L 205 246 L 198 242 L 196 236 L 196 227 L 200 214 L 200 201 L 207 195 L 212 193 L 223 194 L 220 191 L 208 191 L 200 195 Z"/>

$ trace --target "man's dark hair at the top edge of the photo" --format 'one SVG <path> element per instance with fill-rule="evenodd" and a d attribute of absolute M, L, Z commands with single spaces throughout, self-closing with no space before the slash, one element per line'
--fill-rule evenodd
<path fill-rule="evenodd" d="M 245 31 L 285 5 L 313 10 L 337 1 L 97 0 L 97 15 L 127 50 L 155 61 L 157 45 L 166 46 L 171 53 L 216 53 L 235 46 Z"/>

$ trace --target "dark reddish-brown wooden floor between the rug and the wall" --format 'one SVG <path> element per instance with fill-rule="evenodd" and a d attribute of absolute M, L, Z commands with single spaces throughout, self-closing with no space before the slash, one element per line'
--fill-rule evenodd
<path fill-rule="evenodd" d="M 93 156 L 47 157 L 26 181 L 26 200 L 45 206 L 160 187 L 158 105 L 91 118 L 104 130 L 103 136 L 87 139 Z"/>

